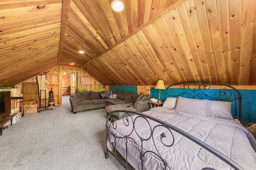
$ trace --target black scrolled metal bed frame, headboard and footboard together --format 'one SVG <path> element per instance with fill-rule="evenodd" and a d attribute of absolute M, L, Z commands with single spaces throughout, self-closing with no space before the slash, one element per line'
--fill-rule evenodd
<path fill-rule="evenodd" d="M 221 89 L 221 90 L 218 90 L 218 96 L 219 97 L 216 97 L 214 95 L 208 95 L 205 90 L 209 90 L 210 89 L 210 84 L 214 84 L 214 85 L 220 85 L 220 86 L 226 86 L 228 87 L 228 89 Z M 173 86 L 177 86 L 177 85 L 180 85 L 180 88 L 182 92 L 180 92 L 180 90 L 176 90 L 175 87 Z M 195 87 L 196 86 L 196 87 Z M 232 92 L 231 90 L 234 90 L 235 92 L 235 95 L 232 96 L 232 94 L 234 94 L 234 92 Z M 179 91 L 178 94 L 175 94 L 176 91 Z M 198 98 L 198 99 L 214 99 L 214 100 L 220 100 L 220 101 L 231 101 L 231 102 L 234 102 L 236 100 L 238 100 L 238 116 L 237 114 L 234 115 L 235 118 L 239 118 L 239 120 L 241 121 L 241 95 L 240 93 L 238 92 L 238 90 L 232 86 L 229 86 L 227 84 L 221 84 L 221 83 L 216 83 L 216 82 L 202 82 L 202 81 L 191 81 L 191 82 L 181 82 L 181 83 L 176 83 L 176 84 L 172 84 L 170 86 L 168 86 L 168 88 L 166 88 L 166 91 L 165 91 L 165 98 L 167 97 L 178 97 L 178 96 L 183 96 L 183 97 L 187 97 L 187 96 L 190 96 L 190 98 Z M 124 115 L 123 115 L 123 123 L 124 125 L 126 126 L 129 126 L 130 124 L 132 125 L 132 131 L 130 132 L 129 135 L 126 135 L 125 137 L 118 137 L 116 134 L 113 134 L 111 131 L 110 131 L 110 126 L 112 124 L 112 128 L 116 129 L 117 128 L 117 124 L 115 123 L 115 119 L 112 118 L 110 119 L 110 116 L 114 113 L 117 113 L 117 112 L 124 112 Z M 132 115 L 137 115 L 137 117 L 132 117 Z M 131 118 L 132 122 L 129 121 L 128 117 Z M 146 120 L 146 122 L 148 123 L 149 127 L 150 127 L 150 136 L 147 138 L 147 139 L 144 139 L 143 137 L 141 137 L 137 131 L 136 131 L 136 127 L 135 127 L 135 124 L 136 124 L 136 120 L 138 118 L 143 118 Z M 109 120 L 110 119 L 110 120 Z M 150 122 L 148 121 L 148 119 L 150 120 L 153 120 L 157 123 L 159 123 L 159 125 L 156 125 L 155 127 L 152 127 L 150 125 Z M 136 112 L 136 111 L 127 111 L 127 110 L 117 110 L 117 111 L 113 111 L 111 112 L 108 117 L 107 117 L 107 120 L 106 120 L 106 150 L 105 150 L 105 158 L 107 159 L 109 156 L 108 156 L 108 152 L 110 152 L 121 164 L 122 166 L 124 166 L 124 168 L 128 168 L 128 161 L 127 161 L 127 156 L 128 156 L 128 153 L 127 153 L 127 141 L 128 140 L 132 140 L 138 147 L 138 150 L 139 150 L 139 154 L 140 154 L 140 161 L 141 161 L 141 169 L 143 169 L 144 167 L 144 160 L 145 160 L 145 156 L 146 154 L 150 153 L 150 154 L 154 154 L 155 156 L 157 156 L 160 160 L 162 160 L 163 162 L 163 165 L 164 165 L 164 169 L 171 169 L 170 166 L 168 165 L 168 162 L 167 160 L 165 160 L 162 155 L 160 154 L 160 152 L 158 151 L 156 145 L 155 145 L 155 142 L 154 142 L 154 130 L 156 127 L 164 127 L 166 128 L 168 131 L 170 131 L 170 134 L 172 135 L 172 144 L 166 144 L 162 141 L 162 139 L 166 138 L 167 135 L 166 133 L 162 133 L 160 134 L 160 137 L 161 137 L 161 142 L 164 146 L 166 147 L 172 147 L 172 145 L 174 144 L 174 136 L 172 134 L 172 131 L 176 131 L 177 133 L 183 135 L 184 137 L 188 138 L 189 140 L 193 141 L 194 143 L 196 143 L 197 145 L 200 145 L 202 148 L 208 150 L 210 153 L 214 154 L 215 156 L 217 156 L 218 158 L 220 158 L 221 160 L 223 160 L 224 162 L 226 162 L 228 165 L 230 165 L 232 168 L 234 168 L 235 170 L 242 170 L 243 168 L 240 167 L 238 164 L 236 164 L 236 162 L 232 161 L 230 158 L 228 158 L 227 156 L 225 156 L 224 154 L 220 153 L 218 150 L 210 147 L 209 145 L 207 145 L 206 143 L 200 141 L 199 139 L 197 139 L 196 137 L 193 137 L 192 135 L 186 133 L 185 131 L 165 122 L 165 121 L 162 121 L 160 119 L 157 119 L 155 117 L 152 117 L 150 115 L 146 115 L 144 113 L 139 113 L 139 112 Z M 154 147 L 156 149 L 156 152 L 155 151 L 152 151 L 152 150 L 144 150 L 143 148 L 139 147 L 138 143 L 136 143 L 136 141 L 131 138 L 131 134 L 135 132 L 136 133 L 136 137 L 138 137 L 140 139 L 140 143 L 141 143 L 141 146 L 144 146 L 143 143 L 145 141 L 148 141 L 150 139 L 152 139 L 153 143 L 154 143 Z M 108 150 L 107 148 L 107 141 L 108 141 L 108 135 L 109 133 L 111 133 L 112 135 L 114 135 L 114 138 L 115 138 L 115 141 L 116 139 L 124 139 L 125 142 L 126 142 L 126 155 L 123 155 L 124 159 L 125 159 L 125 164 L 122 163 L 118 157 L 117 157 L 117 153 L 116 153 L 116 142 L 115 142 L 115 146 L 114 146 L 114 149 L 113 151 L 111 152 L 110 150 Z M 214 168 L 210 168 L 210 167 L 205 167 L 205 168 L 202 168 L 202 170 L 213 170 Z"/>

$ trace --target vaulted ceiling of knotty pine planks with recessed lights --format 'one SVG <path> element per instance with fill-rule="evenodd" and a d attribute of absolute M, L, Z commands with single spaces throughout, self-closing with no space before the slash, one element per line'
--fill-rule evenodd
<path fill-rule="evenodd" d="M 112 1 L 0 0 L 0 84 L 62 65 L 104 85 L 256 85 L 255 0 Z"/>

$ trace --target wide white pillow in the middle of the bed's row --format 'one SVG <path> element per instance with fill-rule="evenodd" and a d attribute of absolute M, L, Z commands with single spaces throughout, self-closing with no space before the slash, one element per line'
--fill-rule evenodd
<path fill-rule="evenodd" d="M 190 99 L 178 97 L 175 110 L 197 115 L 208 116 L 210 109 L 209 100 Z"/>

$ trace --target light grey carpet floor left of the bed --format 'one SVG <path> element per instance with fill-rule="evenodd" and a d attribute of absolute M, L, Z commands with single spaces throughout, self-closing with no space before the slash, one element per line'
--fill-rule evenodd
<path fill-rule="evenodd" d="M 0 137 L 1 170 L 124 169 L 105 159 L 105 109 L 73 114 L 69 96 L 62 105 L 22 117 Z"/>

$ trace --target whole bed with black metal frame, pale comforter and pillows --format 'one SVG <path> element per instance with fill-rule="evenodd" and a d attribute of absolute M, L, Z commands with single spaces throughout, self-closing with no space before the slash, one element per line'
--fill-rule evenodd
<path fill-rule="evenodd" d="M 240 123 L 242 98 L 236 88 L 181 82 L 168 86 L 165 98 L 162 107 L 143 113 L 111 112 L 105 158 L 120 153 L 125 168 L 129 162 L 143 170 L 255 169 L 256 139 Z M 116 112 L 124 112 L 123 119 L 109 119 Z"/>

